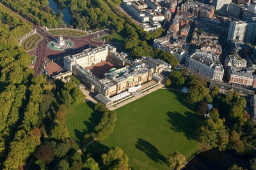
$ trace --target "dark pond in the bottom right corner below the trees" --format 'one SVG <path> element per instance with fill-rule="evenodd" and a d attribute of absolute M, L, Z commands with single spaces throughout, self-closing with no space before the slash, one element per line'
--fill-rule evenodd
<path fill-rule="evenodd" d="M 191 159 L 184 170 L 205 169 L 205 170 L 227 170 L 233 164 L 246 169 L 250 166 L 250 155 L 237 155 L 232 150 L 220 152 L 216 149 L 207 152 L 200 152 L 193 159 Z"/>

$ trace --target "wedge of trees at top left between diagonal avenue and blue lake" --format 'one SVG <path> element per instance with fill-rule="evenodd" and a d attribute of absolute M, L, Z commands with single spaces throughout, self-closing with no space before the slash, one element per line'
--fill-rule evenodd
<path fill-rule="evenodd" d="M 47 0 L 3 0 L 1 2 L 36 25 L 47 27 L 57 25 L 57 16 L 51 11 Z"/>

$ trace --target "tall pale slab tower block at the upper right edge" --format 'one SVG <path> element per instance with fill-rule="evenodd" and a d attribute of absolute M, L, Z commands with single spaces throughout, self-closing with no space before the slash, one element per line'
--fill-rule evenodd
<path fill-rule="evenodd" d="M 244 42 L 253 42 L 256 39 L 256 18 L 251 22 L 232 21 L 228 28 L 227 41 L 237 39 Z"/>

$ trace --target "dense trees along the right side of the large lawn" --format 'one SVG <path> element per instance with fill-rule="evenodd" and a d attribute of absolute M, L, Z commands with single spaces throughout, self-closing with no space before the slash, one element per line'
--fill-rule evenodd
<path fill-rule="evenodd" d="M 211 92 L 206 82 L 195 74 L 188 74 L 186 70 L 170 73 L 171 86 L 177 89 L 189 87 L 187 100 L 198 103 L 197 113 L 207 118 L 198 122 L 198 139 L 202 148 L 209 150 L 236 150 L 238 154 L 249 153 L 256 156 L 256 124 L 245 110 L 246 99 L 237 92 L 228 91 L 219 93 L 218 87 Z M 209 111 L 207 103 L 214 108 Z M 252 160 L 252 169 L 255 169 L 255 160 Z"/>

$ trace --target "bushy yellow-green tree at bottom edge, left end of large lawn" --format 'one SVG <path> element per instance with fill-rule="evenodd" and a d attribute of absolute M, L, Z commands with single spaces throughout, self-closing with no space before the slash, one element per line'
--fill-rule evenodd
<path fill-rule="evenodd" d="M 130 169 L 128 164 L 128 157 L 124 154 L 121 148 L 112 148 L 108 153 L 102 154 L 103 165 L 106 169 Z"/>

